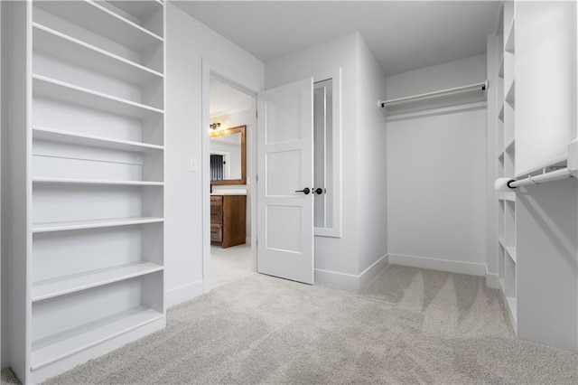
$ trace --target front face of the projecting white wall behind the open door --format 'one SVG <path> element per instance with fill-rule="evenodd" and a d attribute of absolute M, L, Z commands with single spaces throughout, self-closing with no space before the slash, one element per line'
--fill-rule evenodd
<path fill-rule="evenodd" d="M 341 68 L 341 238 L 315 237 L 315 281 L 339 284 L 359 274 L 357 190 L 358 33 L 266 63 L 266 89 Z M 313 79 L 322 80 L 322 79 Z M 333 279 L 333 281 L 331 281 Z"/>

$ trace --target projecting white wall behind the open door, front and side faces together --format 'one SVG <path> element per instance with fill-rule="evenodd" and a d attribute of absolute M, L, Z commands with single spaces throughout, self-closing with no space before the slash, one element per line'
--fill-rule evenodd
<path fill-rule="evenodd" d="M 372 238 L 385 238 L 387 232 L 385 218 L 385 200 L 377 203 L 375 212 L 383 213 L 384 217 L 371 219 L 367 227 L 376 225 L 363 240 L 368 243 L 360 246 L 360 221 L 368 220 L 368 206 L 359 203 L 360 193 L 364 195 L 366 187 L 371 193 L 378 193 L 378 187 L 385 181 L 385 174 L 375 180 L 368 181 L 359 175 L 359 167 L 367 164 L 382 163 L 380 170 L 385 173 L 383 162 L 382 140 L 379 146 L 379 136 L 376 144 L 369 146 L 368 141 L 361 142 L 360 133 L 375 135 L 378 132 L 379 119 L 373 106 L 383 96 L 383 77 L 371 52 L 361 39 L 359 33 L 324 42 L 301 52 L 266 63 L 266 88 L 271 89 L 296 80 L 313 77 L 313 80 L 323 80 L 328 72 L 341 69 L 341 238 L 315 237 L 315 281 L 338 286 L 359 287 L 363 282 L 360 273 L 377 258 L 387 252 L 387 246 Z M 364 104 L 363 107 L 359 107 Z M 371 107 L 370 107 L 371 106 Z M 367 114 L 367 115 L 365 115 Z M 364 115 L 364 117 L 360 117 Z M 361 131 L 360 124 L 365 125 Z M 377 134 L 378 135 L 378 134 Z M 363 143 L 363 145 L 362 145 Z M 379 151 L 365 154 L 365 148 L 378 147 Z M 363 152 L 364 154 L 361 154 Z M 368 183 L 367 186 L 363 183 Z M 365 199 L 365 197 L 363 198 Z M 359 211 L 362 209 L 362 212 Z M 360 256 L 364 253 L 363 256 Z"/>

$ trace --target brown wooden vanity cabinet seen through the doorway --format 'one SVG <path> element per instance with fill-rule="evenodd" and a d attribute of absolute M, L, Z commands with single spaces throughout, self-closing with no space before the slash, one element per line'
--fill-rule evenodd
<path fill-rule="evenodd" d="M 247 238 L 247 195 L 210 196 L 210 242 L 223 248 Z"/>

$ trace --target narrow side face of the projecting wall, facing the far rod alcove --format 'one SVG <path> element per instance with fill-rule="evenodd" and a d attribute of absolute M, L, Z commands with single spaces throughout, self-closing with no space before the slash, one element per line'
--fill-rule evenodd
<path fill-rule="evenodd" d="M 377 271 L 386 263 L 387 129 L 386 117 L 378 107 L 378 100 L 385 94 L 386 77 L 360 37 L 358 79 L 358 272 L 362 273 L 378 261 L 383 263 L 378 262 L 374 268 Z"/>

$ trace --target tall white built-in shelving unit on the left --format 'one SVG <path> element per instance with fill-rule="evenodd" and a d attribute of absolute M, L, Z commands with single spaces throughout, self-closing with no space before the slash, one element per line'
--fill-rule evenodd
<path fill-rule="evenodd" d="M 9 5 L 11 361 L 39 382 L 164 327 L 164 4 Z"/>

